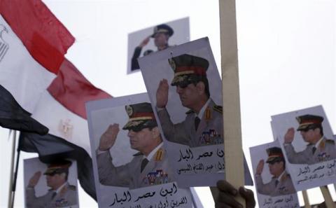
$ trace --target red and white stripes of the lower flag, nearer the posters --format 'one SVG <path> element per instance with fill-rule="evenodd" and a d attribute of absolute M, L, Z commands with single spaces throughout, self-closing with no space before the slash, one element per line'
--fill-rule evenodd
<path fill-rule="evenodd" d="M 111 95 L 94 87 L 65 59 L 31 117 L 48 127 L 49 134 L 66 139 L 91 155 L 85 102 L 106 98 Z"/>

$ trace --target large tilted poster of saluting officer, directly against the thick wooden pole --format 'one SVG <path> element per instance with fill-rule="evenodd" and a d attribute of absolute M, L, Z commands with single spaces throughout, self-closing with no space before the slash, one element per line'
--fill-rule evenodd
<path fill-rule="evenodd" d="M 222 82 L 209 39 L 141 57 L 139 64 L 179 184 L 215 186 L 225 174 Z"/>

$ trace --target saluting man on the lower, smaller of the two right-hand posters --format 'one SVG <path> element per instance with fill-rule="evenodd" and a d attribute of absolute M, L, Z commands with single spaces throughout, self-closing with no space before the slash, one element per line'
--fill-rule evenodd
<path fill-rule="evenodd" d="M 260 160 L 255 171 L 255 183 L 258 193 L 270 195 L 272 197 L 279 195 L 288 195 L 296 193 L 293 181 L 286 172 L 286 162 L 283 158 L 281 148 L 272 147 L 267 149 L 269 172 L 273 175 L 269 183 L 262 182 L 262 169 L 264 169 L 264 160 Z"/>

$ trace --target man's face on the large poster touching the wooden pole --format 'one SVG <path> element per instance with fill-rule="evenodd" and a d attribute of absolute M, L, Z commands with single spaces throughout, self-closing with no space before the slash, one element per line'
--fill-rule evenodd
<path fill-rule="evenodd" d="M 180 87 L 176 85 L 176 92 L 179 94 L 183 106 L 193 109 L 193 106 L 200 102 L 200 89 L 193 83 Z"/>

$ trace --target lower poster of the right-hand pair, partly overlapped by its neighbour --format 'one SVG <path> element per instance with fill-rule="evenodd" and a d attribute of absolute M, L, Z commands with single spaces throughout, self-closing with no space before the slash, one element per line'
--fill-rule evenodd
<path fill-rule="evenodd" d="M 260 208 L 300 207 L 279 141 L 250 147 Z"/>

